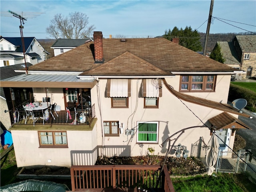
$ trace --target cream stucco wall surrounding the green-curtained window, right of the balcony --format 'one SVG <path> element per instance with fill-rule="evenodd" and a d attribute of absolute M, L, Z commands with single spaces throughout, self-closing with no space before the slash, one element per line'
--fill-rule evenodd
<path fill-rule="evenodd" d="M 223 76 L 223 78 L 226 78 Z M 176 81 L 174 79 L 174 81 Z M 138 82 L 138 83 L 137 83 Z M 184 102 L 189 110 L 176 96 L 171 94 L 165 86 L 162 87 L 162 97 L 159 100 L 158 109 L 145 109 L 144 98 L 138 98 L 140 92 L 142 80 L 132 80 L 131 82 L 131 97 L 129 97 L 129 108 L 111 108 L 111 98 L 106 98 L 104 95 L 106 89 L 107 80 L 100 79 L 100 106 L 101 114 L 96 107 L 97 121 L 97 142 L 100 150 L 100 154 L 105 156 L 140 156 L 145 155 L 148 147 L 152 147 L 155 150 L 155 154 L 165 155 L 168 148 L 168 142 L 164 148 L 160 148 L 160 144 L 166 140 L 172 134 L 178 132 L 181 129 L 190 126 L 203 125 L 209 118 L 220 114 L 222 111 L 214 110 L 204 106 L 199 106 L 189 102 Z M 172 84 L 172 79 L 168 82 Z M 221 82 L 221 81 L 220 81 Z M 225 86 L 225 85 L 224 85 Z M 96 87 L 92 89 L 92 95 L 97 95 Z M 209 93 L 208 93 L 209 94 Z M 221 94 L 221 93 L 220 93 Z M 219 94 L 219 95 L 220 95 Z M 222 98 L 224 100 L 224 98 Z M 97 98 L 92 97 L 92 103 L 96 103 Z M 138 101 L 138 102 L 137 102 Z M 202 122 L 192 113 L 198 116 Z M 126 136 L 125 131 L 118 137 L 102 137 L 102 121 L 119 121 L 124 123 L 124 130 L 133 128 L 135 130 L 134 136 Z M 159 135 L 157 144 L 142 145 L 136 143 L 136 125 L 138 121 L 158 121 L 159 122 Z M 208 125 L 209 126 L 209 125 Z M 174 136 L 176 138 L 178 135 Z M 184 134 L 178 139 L 176 145 L 179 143 L 183 146 L 187 146 L 187 150 L 191 152 L 192 144 L 198 142 L 200 137 L 204 138 L 204 141 L 208 142 L 210 139 L 210 130 L 208 128 L 192 128 L 186 130 Z M 172 138 L 172 139 L 173 139 Z M 128 140 L 127 140 L 128 139 Z M 234 136 L 231 137 L 230 145 L 234 143 Z M 101 150 L 101 145 L 103 149 Z M 232 147 L 232 146 L 230 146 Z M 190 153 L 189 153 L 190 155 Z"/>

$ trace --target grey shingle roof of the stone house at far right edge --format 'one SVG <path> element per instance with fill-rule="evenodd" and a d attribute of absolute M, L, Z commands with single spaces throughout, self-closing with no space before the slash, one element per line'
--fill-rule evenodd
<path fill-rule="evenodd" d="M 237 35 L 242 52 L 256 52 L 256 35 Z"/>

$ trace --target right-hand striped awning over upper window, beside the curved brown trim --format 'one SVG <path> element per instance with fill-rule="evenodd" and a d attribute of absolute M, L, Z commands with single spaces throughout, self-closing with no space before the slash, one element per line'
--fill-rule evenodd
<path fill-rule="evenodd" d="M 142 97 L 162 97 L 162 80 L 143 79 Z"/>

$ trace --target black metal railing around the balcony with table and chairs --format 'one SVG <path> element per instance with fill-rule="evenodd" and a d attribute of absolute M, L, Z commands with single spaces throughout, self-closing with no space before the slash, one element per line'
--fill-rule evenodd
<path fill-rule="evenodd" d="M 45 111 L 31 110 L 24 111 L 23 106 L 16 110 L 8 111 L 12 124 L 62 124 L 62 125 L 85 125 L 90 124 L 95 117 L 95 105 L 82 111 L 50 111 L 48 109 L 48 118 Z"/>

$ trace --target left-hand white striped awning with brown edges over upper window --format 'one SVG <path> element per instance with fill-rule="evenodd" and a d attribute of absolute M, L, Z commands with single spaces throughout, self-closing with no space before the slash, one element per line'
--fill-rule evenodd
<path fill-rule="evenodd" d="M 130 97 L 130 79 L 108 79 L 107 97 Z"/>

